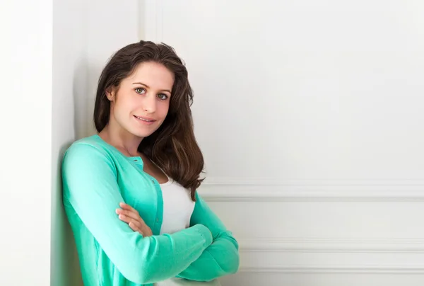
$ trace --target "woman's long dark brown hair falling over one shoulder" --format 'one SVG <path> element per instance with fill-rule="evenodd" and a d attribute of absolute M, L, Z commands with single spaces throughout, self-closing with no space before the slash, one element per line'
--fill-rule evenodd
<path fill-rule="evenodd" d="M 194 137 L 192 120 L 193 91 L 188 72 L 175 50 L 163 43 L 136 42 L 118 50 L 107 62 L 98 81 L 95 98 L 94 124 L 98 132 L 109 122 L 110 101 L 106 91 L 118 87 L 141 62 L 163 64 L 175 77 L 170 108 L 163 124 L 152 135 L 143 138 L 139 151 L 163 169 L 173 180 L 191 190 L 195 201 L 196 189 L 203 178 L 204 157 Z"/>

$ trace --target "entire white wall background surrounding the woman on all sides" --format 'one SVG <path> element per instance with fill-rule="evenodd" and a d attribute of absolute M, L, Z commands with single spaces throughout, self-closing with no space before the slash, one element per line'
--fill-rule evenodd
<path fill-rule="evenodd" d="M 140 38 L 187 63 L 200 191 L 240 241 L 224 286 L 423 285 L 423 12 L 418 0 L 1 4 L 0 285 L 78 285 L 61 155 L 94 131 L 107 58 Z"/>

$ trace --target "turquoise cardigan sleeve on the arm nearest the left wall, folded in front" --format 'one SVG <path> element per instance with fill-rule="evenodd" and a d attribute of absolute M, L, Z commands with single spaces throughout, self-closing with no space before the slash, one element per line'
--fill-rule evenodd
<path fill-rule="evenodd" d="M 62 163 L 64 203 L 98 241 L 119 272 L 131 282 L 149 284 L 175 277 L 211 244 L 211 231 L 194 224 L 175 234 L 143 237 L 115 210 L 123 202 L 114 162 L 90 144 L 73 144 Z"/>

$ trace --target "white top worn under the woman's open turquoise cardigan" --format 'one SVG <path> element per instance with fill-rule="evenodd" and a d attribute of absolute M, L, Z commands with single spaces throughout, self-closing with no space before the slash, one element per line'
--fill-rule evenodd
<path fill-rule="evenodd" d="M 163 196 L 163 220 L 160 234 L 172 234 L 190 226 L 194 204 L 190 197 L 190 191 L 179 183 L 168 178 L 166 183 L 160 184 Z M 218 280 L 211 282 L 188 281 L 179 278 L 170 278 L 156 282 L 155 286 L 220 286 Z"/>

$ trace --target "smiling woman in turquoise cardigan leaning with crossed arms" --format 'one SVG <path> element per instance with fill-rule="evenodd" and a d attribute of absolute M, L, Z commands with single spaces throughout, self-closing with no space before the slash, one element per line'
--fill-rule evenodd
<path fill-rule="evenodd" d="M 84 285 L 219 285 L 237 272 L 237 241 L 196 193 L 192 97 L 164 44 L 127 45 L 103 69 L 98 134 L 74 142 L 62 165 Z"/>

